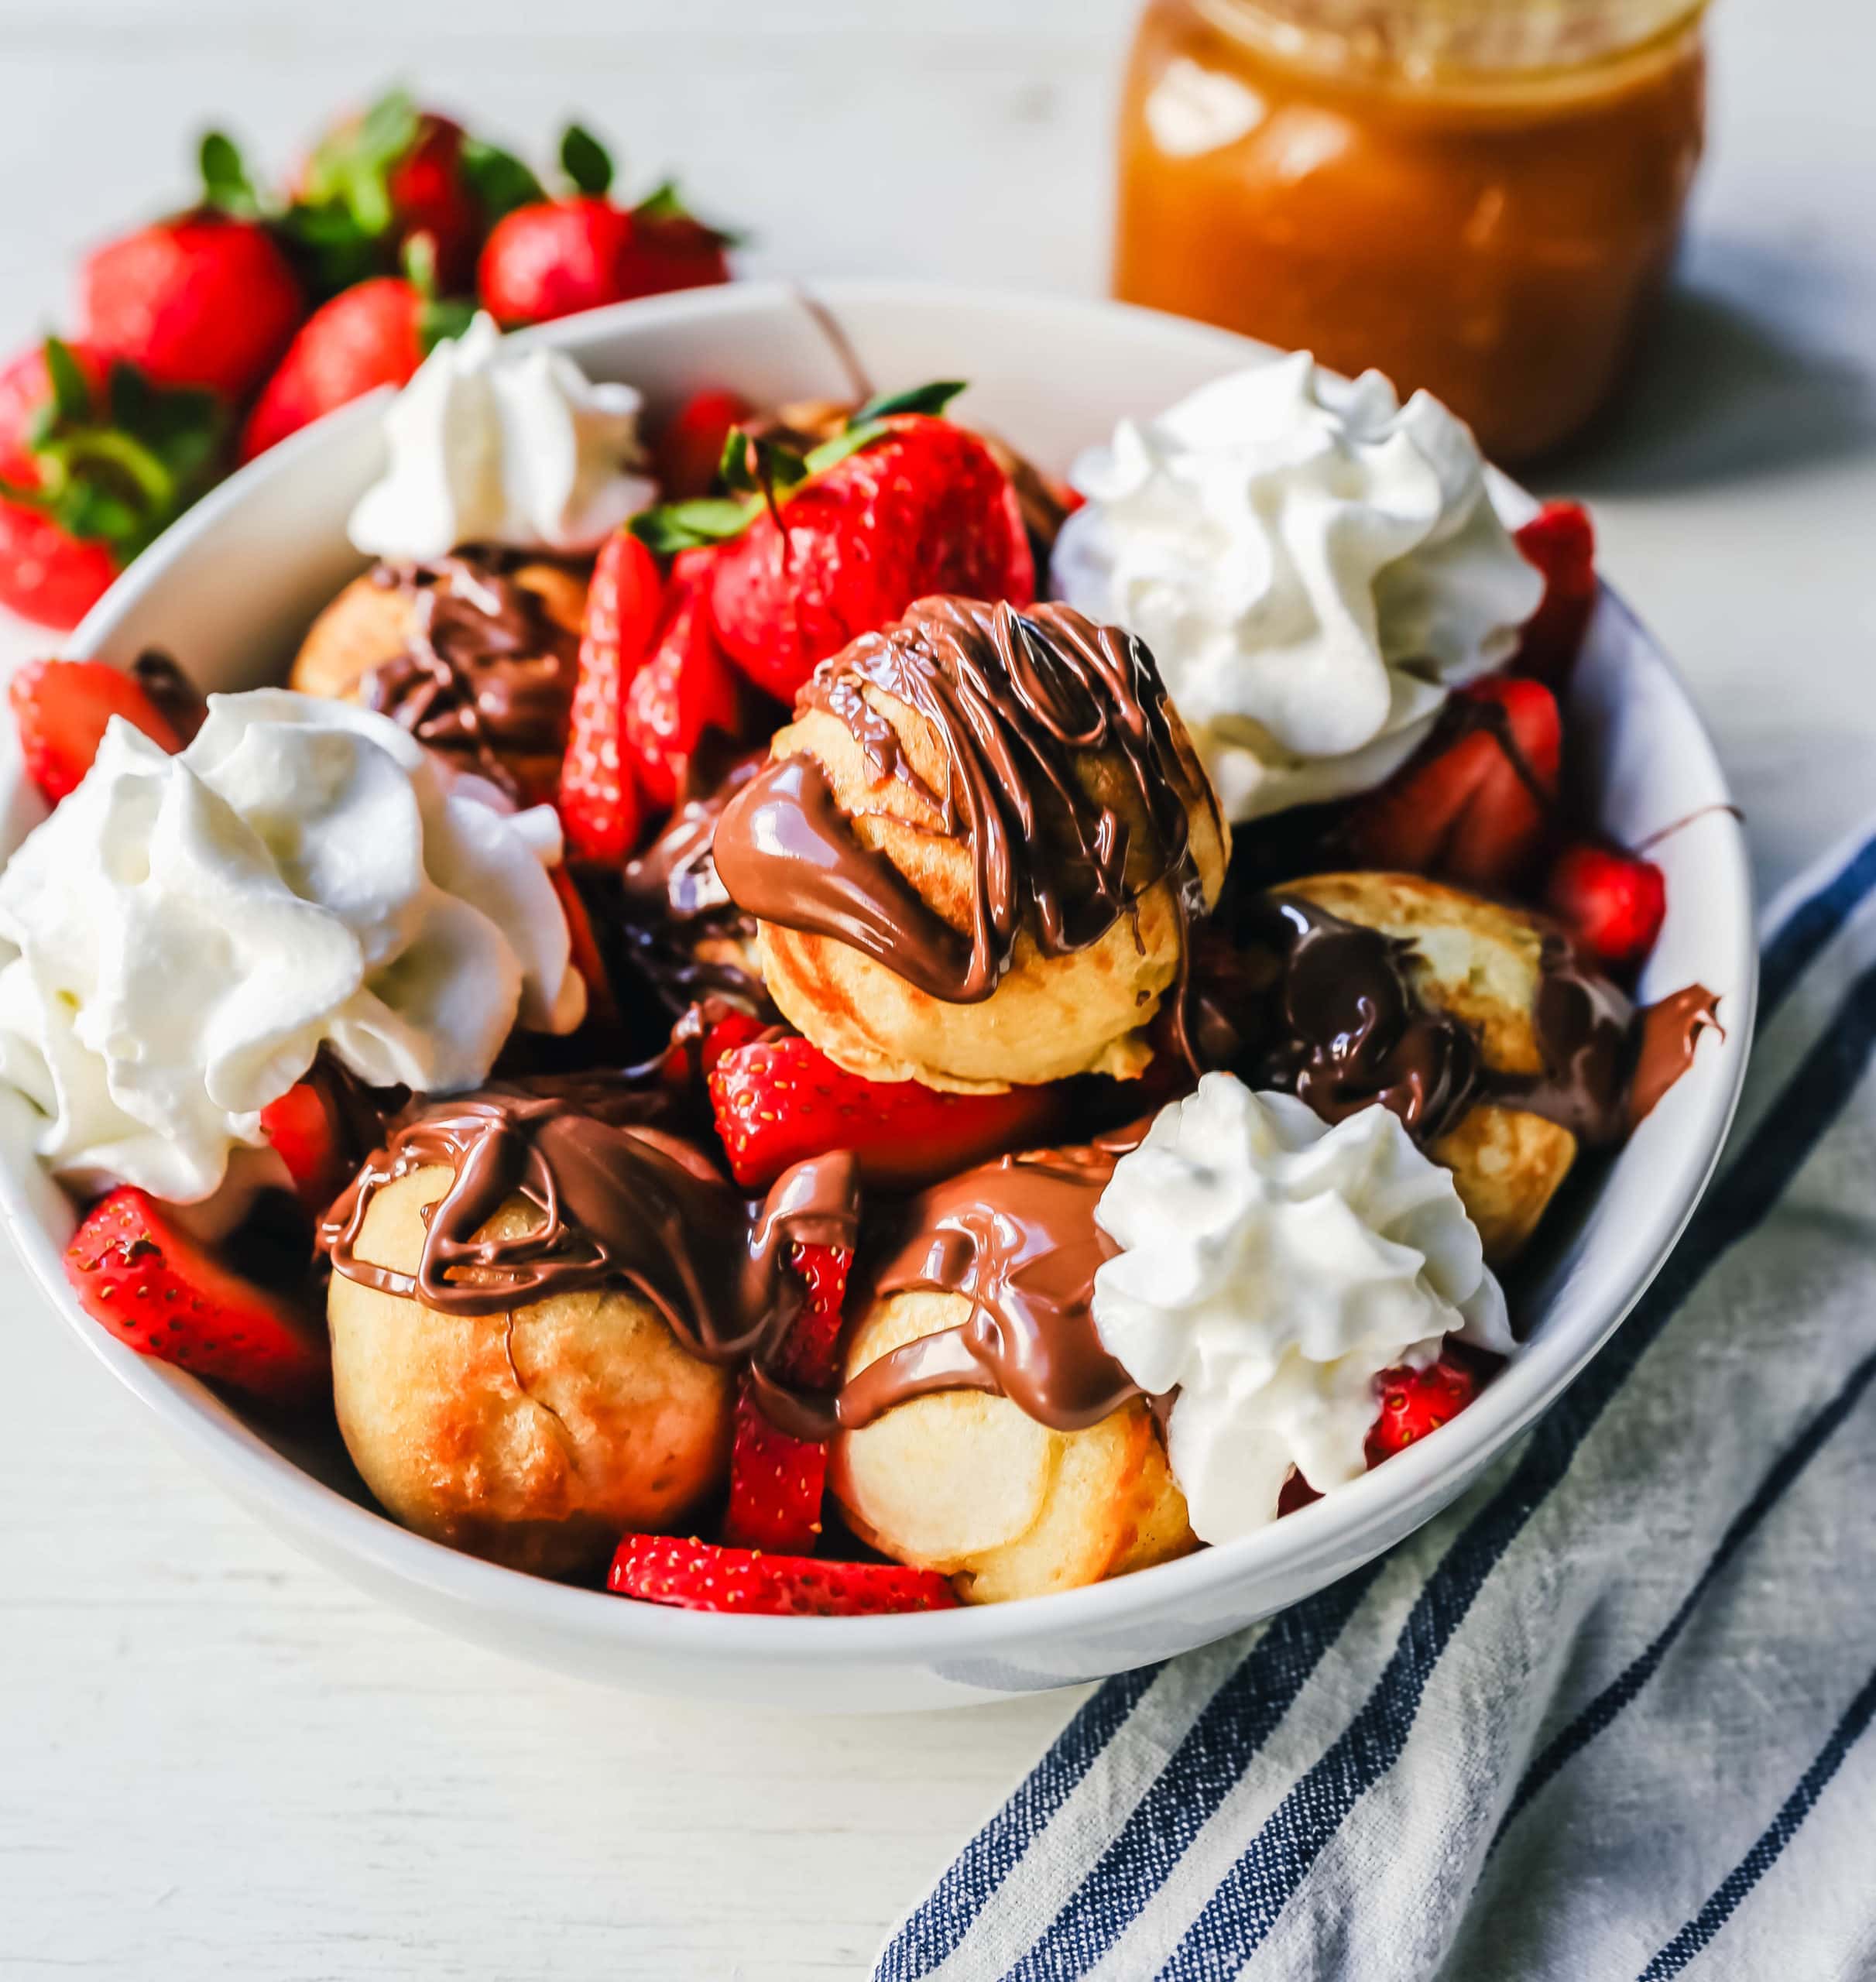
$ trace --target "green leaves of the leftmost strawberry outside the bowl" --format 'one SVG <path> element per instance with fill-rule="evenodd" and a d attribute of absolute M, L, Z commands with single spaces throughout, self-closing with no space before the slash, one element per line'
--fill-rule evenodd
<path fill-rule="evenodd" d="M 38 482 L 0 484 L 0 496 L 129 563 L 214 480 L 226 408 L 212 392 L 153 386 L 121 361 L 97 394 L 58 337 L 46 339 L 46 377 L 50 398 L 26 432 Z"/>

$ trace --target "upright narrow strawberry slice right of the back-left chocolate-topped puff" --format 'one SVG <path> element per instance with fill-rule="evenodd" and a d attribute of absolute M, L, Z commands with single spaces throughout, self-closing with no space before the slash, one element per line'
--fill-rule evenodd
<path fill-rule="evenodd" d="M 587 589 L 559 775 L 559 817 L 575 860 L 617 866 L 639 838 L 639 785 L 625 751 L 625 690 L 658 630 L 662 603 L 656 559 L 629 529 L 615 531 L 599 549 Z"/>

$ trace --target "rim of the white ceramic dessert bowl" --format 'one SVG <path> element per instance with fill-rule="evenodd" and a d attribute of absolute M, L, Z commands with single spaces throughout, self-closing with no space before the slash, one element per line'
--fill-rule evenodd
<path fill-rule="evenodd" d="M 799 309 L 803 289 L 829 305 L 853 309 L 948 307 L 976 315 L 1019 317 L 1031 329 L 1037 317 L 1055 315 L 1069 333 L 1091 317 L 1146 319 L 1160 335 L 1190 335 L 1194 349 L 1216 347 L 1220 359 L 1253 357 L 1267 347 L 1249 339 L 1194 325 L 1160 311 L 1091 297 L 1023 295 L 1019 291 L 976 289 L 962 283 L 920 279 L 829 279 L 811 285 L 789 281 L 732 283 L 718 289 L 648 297 L 607 309 L 565 317 L 518 333 L 528 343 L 571 349 L 603 343 L 619 331 L 652 325 L 710 321 L 716 317 L 763 315 L 777 305 Z M 365 422 L 377 420 L 391 388 L 339 408 L 238 470 L 175 523 L 109 593 L 85 614 L 65 642 L 73 658 L 105 648 L 117 628 L 135 614 L 145 595 L 184 551 L 210 537 L 248 496 L 272 478 L 286 478 L 319 448 L 331 448 Z M 1509 484 L 1495 482 L 1499 488 Z M 1529 501 L 1529 497 L 1525 497 Z M 1690 747 L 1698 751 L 1698 773 L 1723 797 L 1725 777 L 1711 735 L 1688 686 L 1618 595 L 1602 589 L 1602 610 L 1616 612 L 1632 638 L 1668 676 L 1688 719 Z M 18 797 L 22 767 L 18 753 L 0 765 L 0 807 Z M 1757 941 L 1751 870 L 1743 828 L 1735 817 L 1715 815 L 1707 838 L 1705 890 L 1723 890 L 1721 914 L 1741 932 L 1733 957 L 1735 991 L 1729 993 L 1729 1041 L 1723 1078 L 1701 1088 L 1701 1110 L 1686 1126 L 1678 1156 L 1678 1189 L 1652 1207 L 1642 1221 L 1646 1239 L 1634 1241 L 1640 1268 L 1606 1312 L 1586 1304 L 1569 1312 L 1567 1298 L 1553 1300 L 1567 1312 L 1561 1324 L 1539 1332 L 1503 1374 L 1456 1419 L 1430 1437 L 1394 1455 L 1386 1467 L 1364 1473 L 1321 1500 L 1287 1514 L 1279 1522 L 1241 1540 L 1200 1548 L 1190 1556 L 1136 1570 L 1122 1578 L 1049 1596 L 1005 1603 L 962 1605 L 946 1611 L 914 1611 L 886 1617 L 744 1617 L 710 1611 L 682 1611 L 652 1603 L 629 1603 L 605 1590 L 547 1582 L 520 1570 L 502 1568 L 432 1542 L 399 1526 L 389 1514 L 347 1498 L 286 1453 L 268 1445 L 214 1391 L 196 1379 L 139 1356 L 97 1328 L 77 1306 L 65 1284 L 61 1247 L 52 1241 L 34 1209 L 30 1179 L 0 1165 L 0 1223 L 10 1233 L 28 1270 L 38 1280 L 67 1332 L 123 1383 L 157 1419 L 159 1427 L 220 1485 L 266 1512 L 301 1546 L 343 1566 L 357 1560 L 381 1578 L 416 1596 L 440 1599 L 460 1613 L 496 1615 L 524 1633 L 559 1633 L 587 1643 L 607 1643 L 621 1653 L 676 1655 L 708 1665 L 742 1665 L 777 1659 L 845 1659 L 859 1667 L 892 1667 L 906 1661 L 970 1659 L 1021 1653 L 1045 1641 L 1059 1641 L 1085 1629 L 1111 1629 L 1152 1613 L 1186 1609 L 1237 1586 L 1283 1584 L 1305 1570 L 1311 1558 L 1335 1558 L 1331 1576 L 1341 1576 L 1364 1556 L 1388 1546 L 1400 1532 L 1400 1512 L 1414 1506 L 1418 1528 L 1450 1498 L 1456 1479 L 1473 1479 L 1497 1453 L 1549 1409 L 1575 1381 L 1640 1300 L 1668 1253 L 1680 1239 L 1713 1169 L 1725 1132 L 1739 1102 L 1757 1005 Z M 1567 1296 L 1567 1288 L 1563 1290 Z M 1289 1601 L 1289 1599 L 1285 1599 Z"/>

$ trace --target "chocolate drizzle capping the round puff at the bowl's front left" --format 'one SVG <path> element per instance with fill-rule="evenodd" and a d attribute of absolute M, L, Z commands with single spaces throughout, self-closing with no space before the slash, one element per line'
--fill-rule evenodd
<path fill-rule="evenodd" d="M 418 1106 L 327 1213 L 333 1272 L 460 1316 L 629 1286 L 690 1354 L 765 1366 L 801 1300 L 783 1272 L 789 1247 L 855 1243 L 855 1161 L 795 1163 L 748 1203 L 700 1150 L 652 1126 L 660 1108 L 656 1092 L 599 1074 Z M 424 1215 L 416 1270 L 361 1259 L 373 1197 L 428 1165 L 450 1183 Z M 531 1229 L 484 1237 L 514 1197 L 539 1213 Z"/>

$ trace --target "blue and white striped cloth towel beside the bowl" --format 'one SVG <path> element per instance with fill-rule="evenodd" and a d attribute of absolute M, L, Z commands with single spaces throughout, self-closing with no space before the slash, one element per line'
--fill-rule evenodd
<path fill-rule="evenodd" d="M 1725 1159 L 1485 1483 L 1109 1681 L 875 1982 L 1876 1976 L 1876 836 L 1767 918 Z"/>

